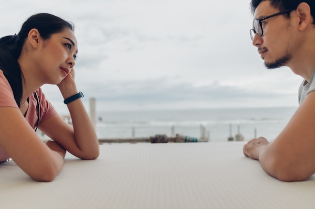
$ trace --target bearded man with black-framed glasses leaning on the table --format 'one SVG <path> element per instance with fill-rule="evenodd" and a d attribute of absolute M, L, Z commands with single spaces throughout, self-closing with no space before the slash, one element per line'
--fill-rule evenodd
<path fill-rule="evenodd" d="M 304 80 L 299 108 L 272 142 L 254 138 L 245 156 L 282 181 L 302 181 L 315 173 L 315 1 L 252 0 L 251 38 L 268 69 L 289 67 Z"/>

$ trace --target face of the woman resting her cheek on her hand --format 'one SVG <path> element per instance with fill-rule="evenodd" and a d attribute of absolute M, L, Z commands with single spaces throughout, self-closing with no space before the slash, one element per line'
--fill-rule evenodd
<path fill-rule="evenodd" d="M 76 54 L 77 41 L 68 28 L 44 40 L 37 60 L 43 82 L 59 84 L 74 67 Z"/>

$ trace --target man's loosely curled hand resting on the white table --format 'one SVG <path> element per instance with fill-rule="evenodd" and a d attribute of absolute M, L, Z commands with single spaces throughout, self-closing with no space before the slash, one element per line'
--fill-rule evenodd
<path fill-rule="evenodd" d="M 260 152 L 264 150 L 268 144 L 269 142 L 264 137 L 254 138 L 244 145 L 243 153 L 247 157 L 258 160 Z"/>

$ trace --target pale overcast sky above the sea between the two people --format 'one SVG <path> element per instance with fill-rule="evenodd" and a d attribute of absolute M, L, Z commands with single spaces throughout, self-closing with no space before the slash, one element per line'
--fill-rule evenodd
<path fill-rule="evenodd" d="M 297 106 L 302 78 L 267 70 L 252 46 L 250 1 L 3 1 L 0 36 L 36 13 L 75 24 L 76 83 L 97 111 Z M 42 87 L 66 112 L 56 86 Z"/>

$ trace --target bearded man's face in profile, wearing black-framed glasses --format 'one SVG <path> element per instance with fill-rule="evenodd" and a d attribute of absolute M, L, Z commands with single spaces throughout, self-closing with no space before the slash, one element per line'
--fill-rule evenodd
<path fill-rule="evenodd" d="M 278 9 L 270 6 L 270 1 L 263 1 L 257 7 L 254 19 L 262 19 L 279 12 Z M 263 35 L 260 37 L 256 34 L 253 45 L 258 48 L 266 68 L 286 66 L 291 60 L 289 27 L 289 21 L 284 15 L 262 21 Z"/>

